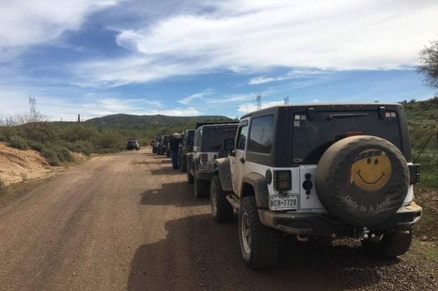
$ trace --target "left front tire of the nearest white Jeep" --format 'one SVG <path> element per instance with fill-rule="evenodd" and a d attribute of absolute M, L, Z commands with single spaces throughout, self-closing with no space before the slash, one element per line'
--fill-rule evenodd
<path fill-rule="evenodd" d="M 210 205 L 213 218 L 217 222 L 229 222 L 233 219 L 233 206 L 226 200 L 227 194 L 222 189 L 219 176 L 214 176 L 210 185 Z"/>

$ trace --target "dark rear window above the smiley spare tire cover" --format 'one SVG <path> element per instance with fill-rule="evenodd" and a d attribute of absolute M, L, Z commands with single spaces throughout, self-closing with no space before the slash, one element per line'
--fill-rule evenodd
<path fill-rule="evenodd" d="M 378 118 L 376 111 L 315 112 L 312 121 L 307 119 L 304 112 L 294 114 L 293 119 L 294 163 L 315 163 L 331 144 L 357 134 L 382 137 L 402 151 L 399 120 L 395 111 L 386 111 L 383 119 Z"/>

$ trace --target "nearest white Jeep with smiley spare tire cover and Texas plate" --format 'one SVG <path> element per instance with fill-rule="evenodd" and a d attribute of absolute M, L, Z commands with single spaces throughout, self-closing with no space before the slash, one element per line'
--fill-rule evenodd
<path fill-rule="evenodd" d="M 279 234 L 299 241 L 349 236 L 376 257 L 409 250 L 422 209 L 413 202 L 400 104 L 302 104 L 246 114 L 226 158 L 214 161 L 210 200 L 218 222 L 238 212 L 242 257 L 275 265 Z"/>

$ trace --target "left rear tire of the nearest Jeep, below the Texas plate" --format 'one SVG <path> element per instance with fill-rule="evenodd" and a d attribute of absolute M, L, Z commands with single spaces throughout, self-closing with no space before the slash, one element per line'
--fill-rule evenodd
<path fill-rule="evenodd" d="M 244 247 L 242 237 L 242 217 L 246 214 L 251 235 L 250 251 Z M 256 198 L 245 197 L 240 203 L 238 233 L 242 258 L 251 269 L 270 269 L 277 263 L 280 244 L 274 229 L 261 224 L 257 212 Z"/>

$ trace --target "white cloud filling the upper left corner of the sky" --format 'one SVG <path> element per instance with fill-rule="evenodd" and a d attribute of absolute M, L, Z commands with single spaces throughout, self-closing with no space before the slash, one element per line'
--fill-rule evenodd
<path fill-rule="evenodd" d="M 48 43 L 62 32 L 81 27 L 95 11 L 114 6 L 119 0 L 1 1 L 0 53 L 11 47 Z"/>

